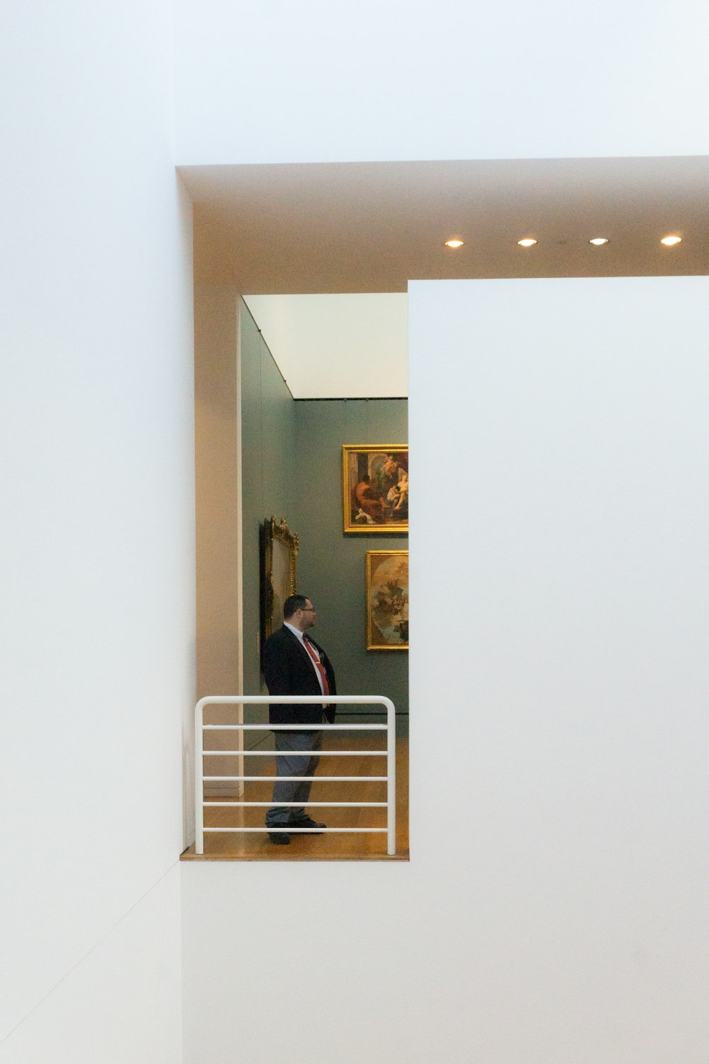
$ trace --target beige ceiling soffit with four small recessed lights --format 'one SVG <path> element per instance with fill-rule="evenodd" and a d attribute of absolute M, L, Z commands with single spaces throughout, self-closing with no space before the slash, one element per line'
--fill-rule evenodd
<path fill-rule="evenodd" d="M 409 280 L 707 273 L 709 159 L 189 166 L 198 283 L 405 292 Z M 659 244 L 679 233 L 676 248 Z M 460 236 L 465 246 L 443 246 Z M 521 249 L 517 240 L 538 244 Z M 603 248 L 588 240 L 606 236 Z"/>

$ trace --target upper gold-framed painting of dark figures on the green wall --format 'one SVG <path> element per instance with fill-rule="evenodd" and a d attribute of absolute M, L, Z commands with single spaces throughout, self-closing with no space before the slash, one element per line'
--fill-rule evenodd
<path fill-rule="evenodd" d="M 408 447 L 342 447 L 342 517 L 345 532 L 408 532 Z"/>

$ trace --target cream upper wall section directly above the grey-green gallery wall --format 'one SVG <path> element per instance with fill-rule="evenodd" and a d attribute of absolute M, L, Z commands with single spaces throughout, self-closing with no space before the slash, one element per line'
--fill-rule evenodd
<path fill-rule="evenodd" d="M 406 293 L 243 298 L 294 399 L 406 396 Z"/>

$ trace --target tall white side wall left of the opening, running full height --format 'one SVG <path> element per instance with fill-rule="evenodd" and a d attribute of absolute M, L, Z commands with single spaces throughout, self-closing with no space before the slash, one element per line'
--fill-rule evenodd
<path fill-rule="evenodd" d="M 193 381 L 172 47 L 162 0 L 4 11 L 3 1064 L 180 1059 L 164 877 L 195 691 Z"/>

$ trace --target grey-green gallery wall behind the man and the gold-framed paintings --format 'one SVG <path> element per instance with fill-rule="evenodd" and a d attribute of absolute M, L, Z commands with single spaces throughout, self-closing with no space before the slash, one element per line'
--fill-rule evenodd
<path fill-rule="evenodd" d="M 244 694 L 265 691 L 258 655 L 258 534 L 264 519 L 273 515 L 285 517 L 298 533 L 298 589 L 317 606 L 313 634 L 332 658 L 338 689 L 384 695 L 399 714 L 407 714 L 408 652 L 366 649 L 365 558 L 368 550 L 406 550 L 408 536 L 345 535 L 341 486 L 343 444 L 407 443 L 407 401 L 293 400 L 242 303 L 241 418 Z M 263 736 L 253 733 L 253 738 Z"/>

